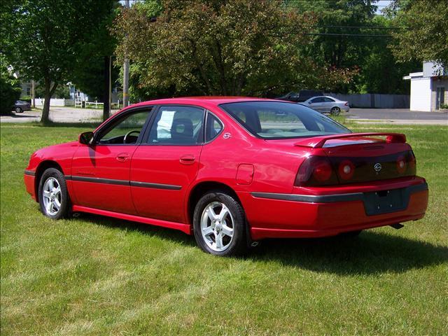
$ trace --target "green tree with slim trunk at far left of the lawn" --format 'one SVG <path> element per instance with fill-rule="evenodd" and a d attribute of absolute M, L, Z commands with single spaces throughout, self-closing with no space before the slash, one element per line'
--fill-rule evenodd
<path fill-rule="evenodd" d="M 106 6 L 94 0 L 1 2 L 2 21 L 8 19 L 2 22 L 2 48 L 6 45 L 5 52 L 22 76 L 43 83 L 41 122 L 48 123 L 50 97 L 75 72 L 84 41 L 91 38 Z"/>

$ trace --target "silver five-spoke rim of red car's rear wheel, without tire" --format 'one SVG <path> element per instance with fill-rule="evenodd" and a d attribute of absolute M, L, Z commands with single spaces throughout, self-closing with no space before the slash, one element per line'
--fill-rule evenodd
<path fill-rule="evenodd" d="M 225 251 L 233 240 L 235 221 L 228 207 L 221 202 L 212 202 L 201 216 L 202 238 L 216 252 Z"/>

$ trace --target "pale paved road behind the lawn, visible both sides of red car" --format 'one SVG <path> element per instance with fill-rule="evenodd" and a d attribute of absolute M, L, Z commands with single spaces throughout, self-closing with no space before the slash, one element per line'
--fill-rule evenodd
<path fill-rule="evenodd" d="M 115 113 L 116 111 L 113 111 Z M 406 109 L 351 109 L 345 114 L 357 123 L 395 123 L 400 125 L 448 125 L 447 112 L 411 112 Z M 25 111 L 13 116 L 1 116 L 1 123 L 38 122 L 41 113 Z M 50 120 L 57 123 L 97 123 L 102 120 L 102 110 L 52 107 Z"/>

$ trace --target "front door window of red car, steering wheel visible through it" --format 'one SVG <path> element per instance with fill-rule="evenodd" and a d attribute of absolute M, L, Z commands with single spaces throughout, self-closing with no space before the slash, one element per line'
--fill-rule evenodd
<path fill-rule="evenodd" d="M 128 113 L 116 122 L 101 131 L 97 142 L 99 144 L 135 144 L 139 139 L 151 109 Z"/>

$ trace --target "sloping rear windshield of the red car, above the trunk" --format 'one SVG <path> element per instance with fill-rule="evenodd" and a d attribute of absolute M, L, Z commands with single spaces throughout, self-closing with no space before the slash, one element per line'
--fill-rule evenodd
<path fill-rule="evenodd" d="M 221 104 L 248 132 L 264 139 L 316 137 L 351 133 L 331 118 L 300 104 L 236 102 Z"/>

